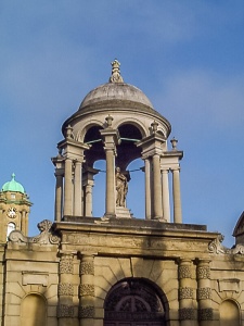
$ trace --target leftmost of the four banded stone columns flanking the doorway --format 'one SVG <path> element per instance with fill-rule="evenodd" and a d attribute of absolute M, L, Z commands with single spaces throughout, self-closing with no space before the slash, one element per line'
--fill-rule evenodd
<path fill-rule="evenodd" d="M 60 271 L 59 271 L 59 305 L 57 305 L 57 318 L 59 326 L 72 326 L 74 325 L 74 285 L 73 285 L 73 254 L 61 253 Z"/>

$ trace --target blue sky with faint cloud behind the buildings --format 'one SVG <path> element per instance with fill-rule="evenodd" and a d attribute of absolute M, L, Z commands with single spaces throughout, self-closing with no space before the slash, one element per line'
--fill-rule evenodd
<path fill-rule="evenodd" d="M 29 234 L 53 220 L 50 158 L 62 123 L 117 58 L 184 151 L 183 222 L 207 224 L 232 246 L 244 210 L 243 35 L 241 0 L 1 1 L 0 184 L 14 172 L 29 193 Z"/>

